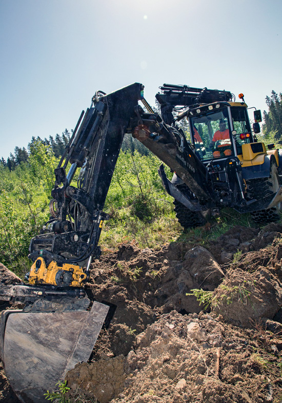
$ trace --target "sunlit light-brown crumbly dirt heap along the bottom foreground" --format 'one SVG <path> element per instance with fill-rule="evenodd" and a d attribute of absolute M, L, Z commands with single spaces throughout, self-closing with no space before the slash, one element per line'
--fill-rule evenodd
<path fill-rule="evenodd" d="M 281 361 L 274 354 L 279 354 L 281 341 L 272 337 L 270 344 L 269 333 L 261 337 L 258 331 L 240 330 L 214 316 L 172 311 L 137 336 L 136 349 L 126 358 L 99 360 L 103 368 L 119 361 L 114 377 L 111 370 L 99 383 L 99 393 L 104 391 L 101 403 L 273 401 L 281 387 Z M 93 364 L 78 364 L 67 379 L 71 387 L 86 385 L 98 398 L 100 377 L 91 383 L 92 368 Z M 109 384 L 111 393 L 106 396 Z"/>

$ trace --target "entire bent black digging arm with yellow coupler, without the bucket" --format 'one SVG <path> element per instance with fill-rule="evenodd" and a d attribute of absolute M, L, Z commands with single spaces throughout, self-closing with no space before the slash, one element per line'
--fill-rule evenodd
<path fill-rule="evenodd" d="M 98 91 L 91 107 L 80 115 L 55 169 L 51 219 L 45 233 L 30 243 L 29 257 L 34 261 L 27 275 L 30 284 L 79 287 L 88 280 L 91 261 L 100 255 L 98 240 L 103 222 L 109 218 L 103 207 L 126 132 L 173 169 L 199 202 L 214 205 L 206 167 L 184 133 L 154 113 L 143 97 L 143 88 L 135 83 L 107 95 Z"/>

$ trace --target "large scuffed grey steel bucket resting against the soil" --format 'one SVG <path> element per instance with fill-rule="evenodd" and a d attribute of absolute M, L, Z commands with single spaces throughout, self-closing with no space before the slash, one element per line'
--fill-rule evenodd
<path fill-rule="evenodd" d="M 94 302 L 90 311 L 3 312 L 1 357 L 20 401 L 46 402 L 44 393 L 89 359 L 108 310 Z"/>

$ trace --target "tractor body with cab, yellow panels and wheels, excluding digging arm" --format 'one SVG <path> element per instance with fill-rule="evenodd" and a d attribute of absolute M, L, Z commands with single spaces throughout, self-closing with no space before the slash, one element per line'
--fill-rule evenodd
<path fill-rule="evenodd" d="M 189 145 L 185 144 L 184 156 L 178 159 L 192 156 L 193 149 L 195 172 L 199 170 L 199 161 L 204 166 L 202 171 L 206 170 L 206 193 L 210 195 L 210 199 L 199 197 L 191 187 L 190 178 L 186 180 L 176 170 L 172 178 L 174 188 L 162 178 L 168 193 L 174 197 L 179 223 L 187 228 L 203 225 L 209 212 L 218 214 L 224 207 L 251 213 L 257 223 L 277 220 L 282 200 L 282 150 L 275 150 L 270 144 L 267 151 L 265 144 L 257 141 L 260 111 L 255 111 L 251 129 L 243 93 L 238 95 L 241 102 L 235 102 L 235 95 L 225 90 L 174 84 L 159 88 L 161 92 L 156 94 L 156 99 L 163 121 L 178 131 L 185 127 L 181 122 L 185 118 L 189 123 Z M 190 205 L 183 196 L 189 199 Z"/>

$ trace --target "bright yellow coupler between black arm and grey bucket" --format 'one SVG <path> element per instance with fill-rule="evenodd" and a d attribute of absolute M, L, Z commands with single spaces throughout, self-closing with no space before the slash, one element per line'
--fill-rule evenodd
<path fill-rule="evenodd" d="M 38 257 L 31 266 L 29 284 L 82 287 L 86 277 L 87 275 L 80 266 L 68 263 L 58 266 L 53 260 L 46 267 L 45 260 L 42 257 Z"/>

